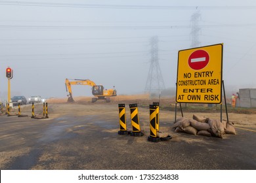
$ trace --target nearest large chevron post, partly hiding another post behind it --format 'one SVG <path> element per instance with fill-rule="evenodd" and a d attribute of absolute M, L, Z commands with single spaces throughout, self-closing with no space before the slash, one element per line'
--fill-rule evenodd
<path fill-rule="evenodd" d="M 160 137 L 157 136 L 157 106 L 150 105 L 150 136 L 148 136 L 148 141 L 151 142 L 160 142 Z"/>

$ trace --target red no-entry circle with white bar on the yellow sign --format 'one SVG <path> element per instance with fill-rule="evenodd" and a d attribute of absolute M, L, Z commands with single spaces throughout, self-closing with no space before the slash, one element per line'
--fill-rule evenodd
<path fill-rule="evenodd" d="M 203 69 L 209 63 L 209 54 L 205 50 L 196 50 L 188 58 L 188 65 L 191 69 Z"/>

